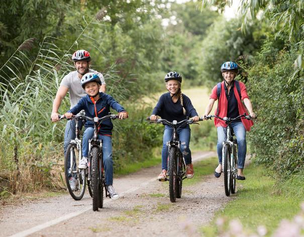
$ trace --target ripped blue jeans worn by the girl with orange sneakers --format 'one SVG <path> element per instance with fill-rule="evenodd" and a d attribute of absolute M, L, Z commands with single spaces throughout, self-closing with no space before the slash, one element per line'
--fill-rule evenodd
<path fill-rule="evenodd" d="M 189 149 L 190 143 L 190 128 L 179 128 L 177 129 L 180 140 L 180 151 L 185 159 L 185 163 L 191 163 L 191 151 Z M 168 170 L 168 146 L 171 141 L 173 134 L 173 128 L 165 126 L 164 136 L 163 136 L 163 148 L 161 151 L 161 165 L 162 169 Z"/>

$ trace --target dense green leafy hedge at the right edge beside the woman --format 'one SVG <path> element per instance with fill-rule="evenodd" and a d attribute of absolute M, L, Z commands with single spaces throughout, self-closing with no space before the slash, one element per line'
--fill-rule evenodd
<path fill-rule="evenodd" d="M 265 162 L 277 179 L 303 169 L 303 74 L 294 75 L 296 51 L 267 41 L 249 70 L 258 122 L 250 133 L 256 161 Z M 288 81 L 289 78 L 289 81 Z M 267 151 L 267 152 L 265 152 Z"/>

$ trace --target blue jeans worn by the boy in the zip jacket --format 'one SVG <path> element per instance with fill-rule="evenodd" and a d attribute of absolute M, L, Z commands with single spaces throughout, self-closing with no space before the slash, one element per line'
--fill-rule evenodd
<path fill-rule="evenodd" d="M 88 157 L 88 140 L 94 135 L 94 128 L 87 127 L 82 137 L 82 156 Z M 106 184 L 113 185 L 113 157 L 112 137 L 98 134 L 98 139 L 103 140 L 103 159 L 105 168 Z"/>

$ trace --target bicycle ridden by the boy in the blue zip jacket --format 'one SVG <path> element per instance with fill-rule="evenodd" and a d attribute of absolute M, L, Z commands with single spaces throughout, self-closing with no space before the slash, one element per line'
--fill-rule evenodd
<path fill-rule="evenodd" d="M 87 120 L 94 122 L 94 135 L 89 140 L 88 151 L 88 175 L 87 181 L 92 191 L 92 204 L 93 211 L 103 208 L 104 206 L 104 188 L 106 197 L 110 197 L 106 188 L 106 179 L 104 176 L 104 162 L 103 162 L 103 141 L 98 139 L 98 125 L 106 119 L 117 119 L 119 116 L 109 113 L 102 118 L 94 117 L 90 118 L 84 116 Z"/>

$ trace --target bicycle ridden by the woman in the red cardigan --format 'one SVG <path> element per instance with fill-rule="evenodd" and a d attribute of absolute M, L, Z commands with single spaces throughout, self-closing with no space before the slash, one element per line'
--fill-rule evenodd
<path fill-rule="evenodd" d="M 221 118 L 216 115 L 209 115 L 205 117 L 205 119 L 218 118 L 227 124 L 227 138 L 226 141 L 223 142 L 222 150 L 222 166 L 224 171 L 224 186 L 226 196 L 230 196 L 231 193 L 233 194 L 236 192 L 236 179 L 238 173 L 238 141 L 236 138 L 234 138 L 234 132 L 230 124 L 241 117 L 251 120 L 251 116 L 246 115 L 246 113 L 239 115 L 236 118 Z"/>

